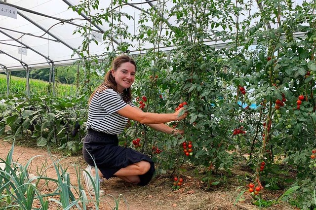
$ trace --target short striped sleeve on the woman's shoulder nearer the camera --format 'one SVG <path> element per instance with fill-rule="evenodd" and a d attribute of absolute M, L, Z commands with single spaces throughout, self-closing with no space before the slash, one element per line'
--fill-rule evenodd
<path fill-rule="evenodd" d="M 98 103 L 108 112 L 108 114 L 112 114 L 127 105 L 118 93 L 112 89 L 106 89 L 100 93 Z"/>

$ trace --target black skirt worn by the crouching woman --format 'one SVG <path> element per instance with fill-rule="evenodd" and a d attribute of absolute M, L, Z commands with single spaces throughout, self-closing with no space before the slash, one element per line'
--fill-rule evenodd
<path fill-rule="evenodd" d="M 153 160 L 148 155 L 131 148 L 119 146 L 117 135 L 88 129 L 88 133 L 83 140 L 82 153 L 87 164 L 94 166 L 95 162 L 106 179 L 114 177 L 118 170 L 142 160 L 149 162 L 151 167 L 146 174 L 139 175 L 139 185 L 148 184 L 155 173 Z"/>

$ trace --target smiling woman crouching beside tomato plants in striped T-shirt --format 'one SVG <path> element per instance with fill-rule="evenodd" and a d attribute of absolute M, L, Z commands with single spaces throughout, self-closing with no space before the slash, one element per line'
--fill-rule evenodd
<path fill-rule="evenodd" d="M 139 185 L 146 185 L 155 172 L 154 162 L 149 156 L 118 146 L 117 135 L 123 132 L 128 119 L 167 134 L 183 134 L 182 130 L 172 129 L 164 124 L 187 117 L 187 112 L 178 116 L 183 108 L 170 114 L 158 114 L 143 112 L 133 105 L 130 87 L 135 74 L 135 61 L 127 55 L 118 56 L 112 63 L 112 69 L 105 75 L 104 82 L 90 96 L 88 133 L 83 140 L 82 152 L 88 164 L 83 177 L 91 195 L 95 195 L 95 191 L 87 173 L 95 177 L 94 162 L 99 177 L 109 179 L 117 176 Z M 99 195 L 104 194 L 104 190 L 99 191 Z"/>

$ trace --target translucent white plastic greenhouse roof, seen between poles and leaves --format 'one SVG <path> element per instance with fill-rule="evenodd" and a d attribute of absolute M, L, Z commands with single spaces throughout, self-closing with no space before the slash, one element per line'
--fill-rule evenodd
<path fill-rule="evenodd" d="M 79 0 L 4 1 L 0 0 L 0 6 L 9 5 L 17 8 L 17 16 L 16 18 L 7 17 L 0 11 L 0 72 L 6 69 L 24 70 L 26 66 L 32 69 L 48 68 L 52 63 L 55 66 L 66 66 L 81 59 L 78 54 L 74 54 L 74 49 L 82 44 L 83 37 L 79 33 L 74 34 L 74 31 L 87 20 L 84 15 L 79 15 L 78 12 L 69 8 L 70 5 L 78 5 Z M 100 0 L 99 11 L 93 12 L 101 12 L 100 9 L 109 7 L 110 2 L 110 0 Z M 126 24 L 129 33 L 135 35 L 138 33 L 140 14 L 155 6 L 156 1 L 122 0 L 122 2 L 125 5 L 120 8 L 120 11 L 133 17 L 130 20 L 126 18 Z M 134 6 L 131 3 L 134 3 Z M 167 1 L 167 6 L 171 8 L 174 4 L 170 0 Z M 254 9 L 256 10 L 257 8 Z M 176 20 L 170 24 L 175 26 Z M 102 35 L 102 32 L 108 29 L 107 27 L 109 26 L 103 24 L 93 26 L 92 29 Z M 114 41 L 115 44 L 119 43 L 117 40 Z M 124 41 L 132 42 L 131 40 Z M 138 43 L 131 44 L 137 46 Z M 149 43 L 142 44 L 144 49 L 152 47 Z M 129 50 L 132 52 L 135 49 Z M 91 55 L 98 55 L 100 59 L 103 59 L 101 55 L 106 51 L 105 45 L 92 42 L 89 51 Z"/>

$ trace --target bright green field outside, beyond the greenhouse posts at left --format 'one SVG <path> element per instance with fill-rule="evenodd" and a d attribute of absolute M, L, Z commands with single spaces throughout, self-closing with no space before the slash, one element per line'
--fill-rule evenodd
<path fill-rule="evenodd" d="M 51 84 L 52 85 L 52 84 Z M 30 79 L 30 91 L 38 95 L 49 95 L 49 82 L 39 79 Z M 73 96 L 76 93 L 76 86 L 62 83 L 55 83 L 56 96 Z M 6 94 L 6 75 L 0 74 L 0 95 Z M 9 84 L 10 94 L 26 92 L 26 78 L 10 76 Z M 52 92 L 52 88 L 50 89 Z"/>

